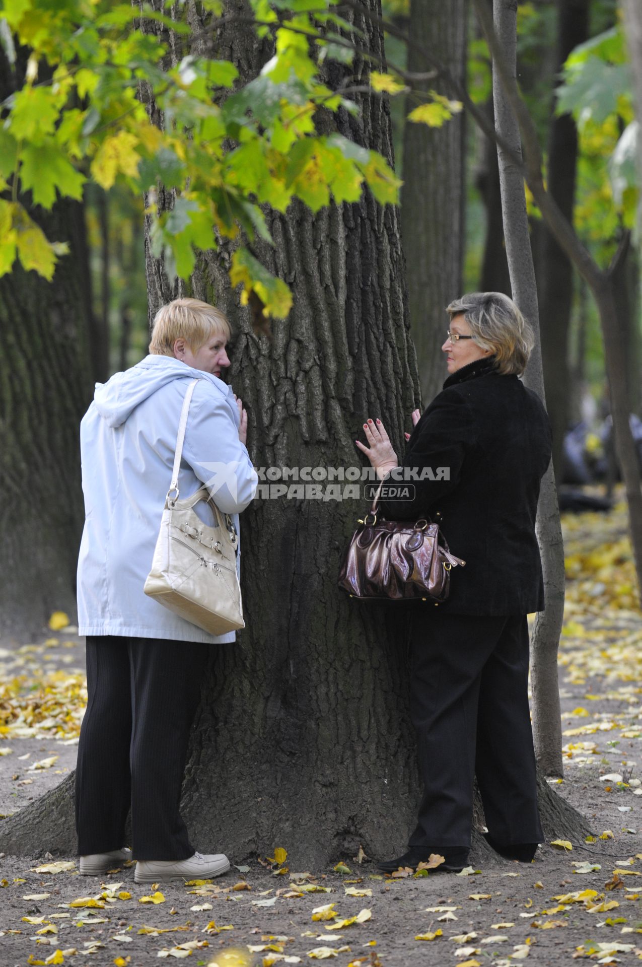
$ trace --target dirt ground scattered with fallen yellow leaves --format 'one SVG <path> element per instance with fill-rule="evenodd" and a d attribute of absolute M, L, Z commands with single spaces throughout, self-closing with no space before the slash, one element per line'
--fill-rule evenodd
<path fill-rule="evenodd" d="M 586 526 L 590 531 L 593 524 Z M 579 537 L 572 529 L 567 534 L 571 551 Z M 602 539 L 596 536 L 596 547 Z M 51 873 L 36 869 L 44 857 L 0 855 L 1 967 L 147 967 L 166 956 L 219 967 L 326 958 L 337 967 L 510 967 L 522 960 L 557 967 L 573 958 L 642 959 L 642 618 L 632 608 L 605 604 L 601 594 L 594 579 L 568 602 L 560 653 L 565 778 L 555 782 L 587 816 L 594 841 L 573 842 L 570 850 L 543 844 L 532 864 L 499 860 L 459 875 L 403 879 L 384 878 L 374 863 L 347 856 L 351 872 L 343 874 L 293 868 L 281 874 L 234 856 L 231 872 L 212 883 L 160 884 L 157 903 L 143 902 L 156 887 L 136 886 L 132 864 L 101 879 L 80 877 L 75 857 L 56 857 L 73 867 Z M 82 698 L 84 656 L 71 629 L 0 646 L 0 682 L 13 683 L 5 700 L 9 695 L 22 710 L 11 729 L 0 731 L 0 813 L 6 815 L 73 769 L 73 697 Z M 39 722 L 25 699 L 30 689 L 51 699 Z M 61 721 L 67 731 L 52 738 Z M 44 765 L 33 768 L 36 762 Z M 267 843 L 266 850 L 276 846 L 287 849 L 283 842 Z M 69 906 L 89 897 L 89 908 Z M 313 911 L 326 904 L 334 904 L 329 916 L 336 917 L 314 920 Z M 361 911 L 367 911 L 361 922 L 334 928 Z M 191 947 L 181 949 L 185 944 Z"/>

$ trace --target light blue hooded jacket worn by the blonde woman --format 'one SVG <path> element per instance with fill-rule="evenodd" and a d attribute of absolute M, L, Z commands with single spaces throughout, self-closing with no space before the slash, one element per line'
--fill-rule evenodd
<path fill-rule="evenodd" d="M 147 356 L 107 383 L 80 424 L 85 526 L 77 572 L 78 633 L 176 641 L 234 641 L 179 618 L 143 592 L 169 489 L 181 407 L 191 397 L 179 474 L 181 498 L 208 484 L 219 509 L 238 514 L 257 476 L 239 440 L 239 413 L 217 376 L 169 356 Z M 207 522 L 209 508 L 194 509 Z M 240 568 L 240 542 L 237 568 Z"/>

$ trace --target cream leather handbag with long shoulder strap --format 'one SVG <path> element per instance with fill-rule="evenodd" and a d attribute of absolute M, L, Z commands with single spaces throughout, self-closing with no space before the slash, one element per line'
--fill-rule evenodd
<path fill-rule="evenodd" d="M 197 382 L 191 381 L 181 410 L 171 486 L 144 591 L 192 625 L 211 634 L 224 634 L 246 627 L 236 571 L 238 536 L 234 524 L 228 514 L 220 513 L 204 486 L 191 497 L 178 499 L 185 429 Z M 203 523 L 194 512 L 199 500 L 212 508 L 217 521 L 214 527 Z"/>

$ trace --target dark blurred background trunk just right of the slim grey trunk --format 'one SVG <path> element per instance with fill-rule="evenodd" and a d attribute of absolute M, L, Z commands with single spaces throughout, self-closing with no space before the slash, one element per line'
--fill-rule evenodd
<path fill-rule="evenodd" d="M 589 34 L 590 0 L 558 0 L 560 73 L 570 51 Z M 572 224 L 577 165 L 577 129 L 570 114 L 554 117 L 548 139 L 548 190 Z M 544 224 L 540 245 L 540 331 L 546 406 L 553 427 L 553 469 L 561 482 L 564 436 L 569 426 L 571 372 L 569 328 L 573 300 L 573 267 L 569 256 Z"/>

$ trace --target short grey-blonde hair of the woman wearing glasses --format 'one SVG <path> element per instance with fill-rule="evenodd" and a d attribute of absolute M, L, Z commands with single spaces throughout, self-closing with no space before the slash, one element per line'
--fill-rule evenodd
<path fill-rule="evenodd" d="M 503 292 L 471 292 L 455 299 L 446 311 L 451 320 L 455 315 L 463 315 L 478 346 L 495 357 L 497 372 L 521 376 L 535 337 L 512 299 Z"/>

